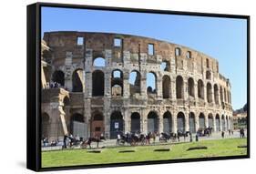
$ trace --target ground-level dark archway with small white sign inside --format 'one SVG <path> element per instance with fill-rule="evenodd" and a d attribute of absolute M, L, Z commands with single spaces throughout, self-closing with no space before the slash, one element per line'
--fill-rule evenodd
<path fill-rule="evenodd" d="M 124 120 L 120 111 L 114 111 L 110 116 L 110 138 L 123 134 Z"/>

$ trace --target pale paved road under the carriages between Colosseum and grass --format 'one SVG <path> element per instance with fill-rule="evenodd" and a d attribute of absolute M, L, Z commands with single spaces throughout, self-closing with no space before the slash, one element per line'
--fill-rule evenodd
<path fill-rule="evenodd" d="M 245 138 L 247 137 L 247 131 L 245 130 Z M 195 141 L 196 134 L 192 135 L 192 140 Z M 200 140 L 211 140 L 211 139 L 220 139 L 221 138 L 221 132 L 218 133 L 212 133 L 210 137 L 200 137 Z M 228 131 L 225 132 L 224 138 L 240 138 L 240 132 L 239 130 L 235 130 L 233 132 L 233 134 L 229 134 Z M 159 137 L 156 138 L 155 143 L 153 143 L 153 139 L 150 140 L 150 145 L 159 145 L 159 144 L 175 144 L 175 143 L 182 143 L 182 142 L 189 142 L 190 138 L 183 138 L 180 137 L 179 141 L 168 141 L 168 142 L 159 142 Z M 103 147 L 121 147 L 121 146 L 130 146 L 129 144 L 125 144 L 125 145 L 117 145 L 117 139 L 108 139 L 105 140 L 103 142 L 100 142 L 98 145 L 98 148 L 103 148 Z M 97 148 L 97 143 L 93 142 L 91 144 L 92 148 Z M 48 151 L 48 150 L 56 150 L 56 149 L 61 149 L 61 146 L 56 146 L 56 147 L 44 147 L 42 148 L 43 151 Z M 79 146 L 77 147 L 73 147 L 73 148 L 79 148 Z"/>

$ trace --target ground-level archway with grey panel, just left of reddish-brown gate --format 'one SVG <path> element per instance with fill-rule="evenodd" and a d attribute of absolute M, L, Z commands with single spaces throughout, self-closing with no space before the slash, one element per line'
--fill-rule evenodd
<path fill-rule="evenodd" d="M 82 114 L 75 113 L 71 116 L 69 130 L 74 137 L 87 137 L 87 125 L 85 124 L 85 119 Z"/>

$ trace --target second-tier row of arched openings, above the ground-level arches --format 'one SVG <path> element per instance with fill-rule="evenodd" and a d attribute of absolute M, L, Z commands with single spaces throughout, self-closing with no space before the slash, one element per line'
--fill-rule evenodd
<path fill-rule="evenodd" d="M 74 71 L 72 76 L 73 92 L 82 92 L 82 69 L 77 69 Z M 140 73 L 137 70 L 133 70 L 129 74 L 129 85 L 130 94 L 140 93 Z M 65 86 L 64 73 L 60 70 L 55 71 L 53 74 L 53 81 L 58 82 L 62 86 Z M 198 87 L 198 97 L 204 99 L 204 88 L 205 84 L 201 79 L 195 82 L 192 77 L 188 79 L 188 93 L 190 97 L 195 97 L 195 83 Z M 105 76 L 104 72 L 101 70 L 95 70 L 92 73 L 92 96 L 104 96 L 105 88 Z M 112 96 L 122 96 L 123 95 L 123 73 L 121 70 L 116 69 L 112 71 L 111 75 L 111 89 Z M 157 76 L 154 72 L 148 72 L 147 74 L 147 92 L 157 93 Z M 171 80 L 168 75 L 162 77 L 162 96 L 163 98 L 171 97 Z M 206 99 L 209 103 L 215 101 L 216 104 L 221 102 L 230 103 L 230 91 L 225 87 L 219 87 L 217 84 L 211 85 L 210 82 L 206 84 Z M 176 97 L 184 98 L 184 79 L 181 76 L 176 77 Z"/>

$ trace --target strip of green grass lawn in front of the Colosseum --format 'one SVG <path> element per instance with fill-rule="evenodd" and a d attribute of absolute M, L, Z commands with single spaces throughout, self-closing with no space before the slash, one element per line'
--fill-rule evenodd
<path fill-rule="evenodd" d="M 62 167 L 89 164 L 107 164 L 164 159 L 194 159 L 223 156 L 240 156 L 247 154 L 246 138 L 204 140 L 200 142 L 180 143 L 159 146 L 137 146 L 120 148 L 102 148 L 101 153 L 87 153 L 89 149 L 68 149 L 42 152 L 42 167 Z M 190 147 L 206 146 L 208 149 L 187 151 Z M 170 148 L 167 152 L 154 151 L 156 148 Z M 131 150 L 131 153 L 118 153 L 120 150 Z"/>

